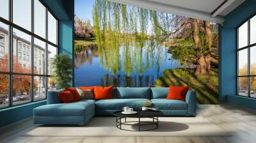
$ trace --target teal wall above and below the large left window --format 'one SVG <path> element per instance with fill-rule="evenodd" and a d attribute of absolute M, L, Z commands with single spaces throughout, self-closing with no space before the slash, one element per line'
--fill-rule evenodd
<path fill-rule="evenodd" d="M 74 59 L 74 0 L 43 0 L 59 20 L 59 52 L 68 54 Z M 72 60 L 74 61 L 74 60 Z M 74 77 L 74 76 L 73 76 Z M 35 107 L 45 105 L 46 101 L 28 103 L 0 110 L 0 127 L 15 123 L 22 119 L 33 116 Z"/>

